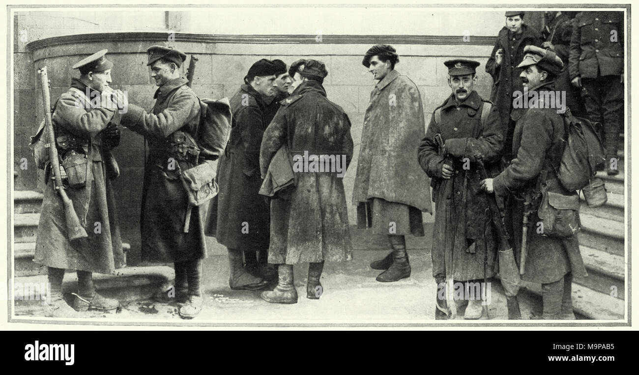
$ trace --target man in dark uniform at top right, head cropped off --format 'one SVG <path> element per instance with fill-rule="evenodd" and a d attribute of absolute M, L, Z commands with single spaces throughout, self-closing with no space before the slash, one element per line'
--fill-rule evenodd
<path fill-rule="evenodd" d="M 603 126 L 606 172 L 619 174 L 617 147 L 624 126 L 624 13 L 582 11 L 573 22 L 569 73 L 590 121 Z"/>

